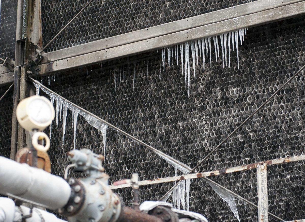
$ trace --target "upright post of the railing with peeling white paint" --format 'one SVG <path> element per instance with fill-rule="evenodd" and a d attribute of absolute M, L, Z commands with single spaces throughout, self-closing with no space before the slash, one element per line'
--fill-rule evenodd
<path fill-rule="evenodd" d="M 257 166 L 258 221 L 268 222 L 267 164 Z"/>

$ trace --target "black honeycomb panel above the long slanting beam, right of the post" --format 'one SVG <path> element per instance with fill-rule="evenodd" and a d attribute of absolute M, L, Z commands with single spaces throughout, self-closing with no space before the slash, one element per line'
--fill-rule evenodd
<path fill-rule="evenodd" d="M 254 1 L 93 1 L 45 51 L 80 45 Z M 87 2 L 89 1 L 41 1 L 43 45 L 46 45 Z"/>

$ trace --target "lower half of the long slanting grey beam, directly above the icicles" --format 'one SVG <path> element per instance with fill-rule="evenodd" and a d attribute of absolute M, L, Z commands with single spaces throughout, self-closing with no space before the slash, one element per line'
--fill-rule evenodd
<path fill-rule="evenodd" d="M 275 9 L 269 9 L 246 16 L 240 16 L 213 24 L 191 28 L 185 31 L 175 32 L 169 35 L 163 35 L 130 43 L 127 45 L 121 45 L 93 53 L 61 59 L 58 61 L 39 65 L 33 69 L 33 71 L 40 75 L 53 74 L 58 71 L 65 71 L 77 67 L 100 63 L 102 61 L 119 59 L 138 53 L 145 53 L 154 49 L 164 48 L 169 45 L 176 45 L 182 42 L 220 35 L 245 27 L 257 26 L 282 19 L 287 19 L 304 13 L 305 1 L 302 1 Z"/>

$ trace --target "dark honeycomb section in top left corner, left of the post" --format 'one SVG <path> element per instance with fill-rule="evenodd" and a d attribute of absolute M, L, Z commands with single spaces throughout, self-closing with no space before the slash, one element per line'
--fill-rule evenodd
<path fill-rule="evenodd" d="M 0 12 L 0 57 L 15 60 L 17 0 L 2 0 Z M 2 62 L 0 62 L 2 63 Z"/>

